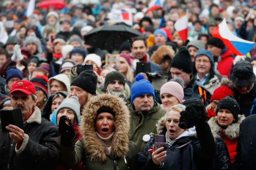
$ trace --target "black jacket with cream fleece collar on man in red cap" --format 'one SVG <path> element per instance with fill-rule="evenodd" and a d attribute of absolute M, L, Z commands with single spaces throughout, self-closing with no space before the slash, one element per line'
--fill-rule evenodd
<path fill-rule="evenodd" d="M 60 159 L 58 128 L 44 118 L 35 107 L 34 113 L 24 122 L 25 137 L 17 150 L 8 133 L 0 132 L 0 169 L 54 169 Z"/>

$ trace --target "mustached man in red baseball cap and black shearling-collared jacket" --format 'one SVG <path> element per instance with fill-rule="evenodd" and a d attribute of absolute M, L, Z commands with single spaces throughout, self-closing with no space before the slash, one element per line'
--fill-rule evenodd
<path fill-rule="evenodd" d="M 10 90 L 11 105 L 21 108 L 24 131 L 8 125 L 0 132 L 0 169 L 54 169 L 60 157 L 58 128 L 36 107 L 36 88 L 28 80 L 19 80 Z"/>

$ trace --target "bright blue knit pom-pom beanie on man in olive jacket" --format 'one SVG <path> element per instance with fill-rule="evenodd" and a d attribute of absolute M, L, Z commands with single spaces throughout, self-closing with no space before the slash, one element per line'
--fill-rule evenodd
<path fill-rule="evenodd" d="M 155 100 L 154 87 L 148 80 L 144 78 L 142 74 L 138 74 L 135 78 L 135 83 L 131 87 L 131 100 L 133 100 L 142 94 L 151 94 Z"/>

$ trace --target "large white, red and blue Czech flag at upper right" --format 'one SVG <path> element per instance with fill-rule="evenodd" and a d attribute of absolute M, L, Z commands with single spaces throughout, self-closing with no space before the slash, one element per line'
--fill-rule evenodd
<path fill-rule="evenodd" d="M 255 42 L 246 41 L 231 33 L 226 18 L 212 31 L 212 36 L 220 38 L 224 44 L 236 55 L 246 55 L 255 45 Z"/>

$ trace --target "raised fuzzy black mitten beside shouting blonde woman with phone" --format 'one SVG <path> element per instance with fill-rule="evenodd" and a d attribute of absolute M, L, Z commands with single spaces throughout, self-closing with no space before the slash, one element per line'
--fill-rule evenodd
<path fill-rule="evenodd" d="M 203 127 L 205 125 L 206 113 L 204 105 L 189 104 L 185 111 L 180 112 L 181 129 L 189 129 L 193 126 Z"/>

